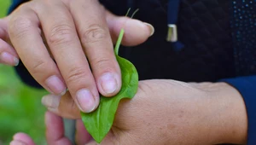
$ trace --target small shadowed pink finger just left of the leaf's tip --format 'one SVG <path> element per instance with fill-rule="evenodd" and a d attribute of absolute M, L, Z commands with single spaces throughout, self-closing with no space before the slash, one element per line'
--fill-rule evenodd
<path fill-rule="evenodd" d="M 88 131 L 85 130 L 84 123 L 81 119 L 77 120 L 76 130 L 75 140 L 78 145 L 84 145 L 92 140 Z"/>

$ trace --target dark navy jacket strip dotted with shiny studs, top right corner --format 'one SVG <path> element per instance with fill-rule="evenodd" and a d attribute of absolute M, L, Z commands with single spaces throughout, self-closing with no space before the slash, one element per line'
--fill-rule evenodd
<path fill-rule="evenodd" d="M 256 72 L 255 9 L 255 0 L 232 0 L 230 26 L 237 75 L 252 75 Z"/>

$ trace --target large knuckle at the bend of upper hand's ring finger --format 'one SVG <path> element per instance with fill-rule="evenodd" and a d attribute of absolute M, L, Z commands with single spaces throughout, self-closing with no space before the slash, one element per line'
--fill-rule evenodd
<path fill-rule="evenodd" d="M 26 17 L 16 16 L 9 23 L 9 32 L 12 37 L 22 38 L 32 28 L 32 20 Z"/>

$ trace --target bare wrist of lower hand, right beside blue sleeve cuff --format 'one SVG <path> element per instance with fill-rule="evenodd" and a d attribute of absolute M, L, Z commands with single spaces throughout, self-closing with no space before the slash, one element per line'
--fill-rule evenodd
<path fill-rule="evenodd" d="M 212 119 L 218 143 L 245 144 L 247 140 L 247 110 L 241 94 L 226 83 L 208 88 L 212 100 Z"/>

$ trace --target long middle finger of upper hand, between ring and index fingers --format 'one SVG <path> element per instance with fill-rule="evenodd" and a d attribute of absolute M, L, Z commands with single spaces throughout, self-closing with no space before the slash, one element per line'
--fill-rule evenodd
<path fill-rule="evenodd" d="M 89 113 L 98 106 L 99 94 L 79 41 L 73 17 L 60 0 L 43 3 L 40 8 L 38 17 L 45 38 L 68 90 L 80 110 Z"/>

